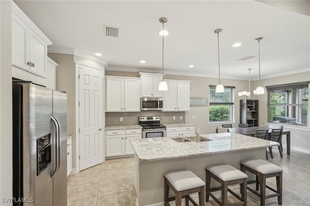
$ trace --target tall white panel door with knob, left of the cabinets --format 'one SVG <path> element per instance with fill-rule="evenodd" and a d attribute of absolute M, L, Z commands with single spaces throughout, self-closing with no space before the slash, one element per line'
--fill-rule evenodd
<path fill-rule="evenodd" d="M 103 161 L 103 71 L 79 68 L 79 170 Z"/>

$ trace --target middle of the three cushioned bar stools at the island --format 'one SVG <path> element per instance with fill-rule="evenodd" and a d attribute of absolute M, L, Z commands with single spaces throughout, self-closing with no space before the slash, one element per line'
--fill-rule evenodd
<path fill-rule="evenodd" d="M 248 176 L 234 168 L 229 164 L 214 164 L 206 166 L 206 192 L 205 199 L 209 202 L 209 195 L 218 203 L 220 206 L 227 206 L 227 192 L 229 191 L 233 196 L 238 198 L 240 202 L 233 203 L 233 206 L 247 205 L 247 178 Z M 211 177 L 221 184 L 221 187 L 210 189 Z M 228 188 L 229 185 L 240 184 L 241 197 Z M 217 199 L 211 192 L 219 191 L 222 192 L 221 201 Z"/>

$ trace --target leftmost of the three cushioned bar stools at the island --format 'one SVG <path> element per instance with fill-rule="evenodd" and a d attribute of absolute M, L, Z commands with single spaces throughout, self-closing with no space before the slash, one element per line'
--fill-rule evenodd
<path fill-rule="evenodd" d="M 189 196 L 189 194 L 198 192 L 199 205 L 204 206 L 204 181 L 196 176 L 192 171 L 174 170 L 166 172 L 165 176 L 165 200 L 164 205 L 170 206 L 169 202 L 175 200 L 176 206 L 181 206 L 182 198 L 185 198 L 186 206 L 188 206 L 188 200 L 194 205 L 197 203 Z M 175 197 L 169 198 L 169 187 L 175 193 Z"/>

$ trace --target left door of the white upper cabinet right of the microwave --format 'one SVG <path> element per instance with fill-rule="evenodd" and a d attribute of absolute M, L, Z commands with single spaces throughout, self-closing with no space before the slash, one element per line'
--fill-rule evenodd
<path fill-rule="evenodd" d="M 177 82 L 167 81 L 168 91 L 163 92 L 163 111 L 176 111 L 177 106 Z"/>

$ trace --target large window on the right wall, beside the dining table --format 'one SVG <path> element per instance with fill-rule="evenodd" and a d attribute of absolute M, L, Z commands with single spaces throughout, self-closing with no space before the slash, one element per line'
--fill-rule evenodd
<path fill-rule="evenodd" d="M 308 125 L 309 82 L 267 86 L 269 122 Z"/>

